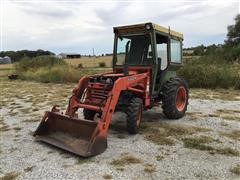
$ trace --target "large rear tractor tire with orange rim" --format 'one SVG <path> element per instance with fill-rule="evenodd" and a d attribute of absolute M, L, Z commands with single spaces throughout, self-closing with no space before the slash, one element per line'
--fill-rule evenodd
<path fill-rule="evenodd" d="M 171 78 L 162 89 L 162 109 L 169 119 L 179 119 L 185 115 L 188 105 L 188 84 L 179 77 Z"/>

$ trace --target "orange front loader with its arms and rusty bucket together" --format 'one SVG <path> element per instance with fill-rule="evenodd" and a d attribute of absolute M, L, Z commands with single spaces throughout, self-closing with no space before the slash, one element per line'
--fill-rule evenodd
<path fill-rule="evenodd" d="M 109 77 L 115 80 L 112 84 L 108 83 Z M 100 80 L 92 82 L 94 79 Z M 107 83 L 101 83 L 104 80 Z M 80 156 L 100 154 L 107 148 L 108 128 L 121 92 L 131 91 L 148 105 L 148 83 L 148 72 L 129 76 L 106 74 L 82 77 L 73 90 L 65 115 L 55 107 L 51 112 L 46 112 L 34 136 L 37 140 Z M 97 121 L 79 119 L 77 116 L 79 108 L 98 113 Z"/>

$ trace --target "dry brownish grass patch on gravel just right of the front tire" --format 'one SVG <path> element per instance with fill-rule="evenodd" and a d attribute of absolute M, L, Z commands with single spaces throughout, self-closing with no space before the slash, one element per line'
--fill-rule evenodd
<path fill-rule="evenodd" d="M 173 138 L 180 139 L 182 136 L 191 135 L 197 132 L 206 132 L 210 131 L 210 129 L 159 122 L 145 122 L 142 125 L 142 131 L 146 140 L 157 145 L 171 146 L 175 144 Z"/>

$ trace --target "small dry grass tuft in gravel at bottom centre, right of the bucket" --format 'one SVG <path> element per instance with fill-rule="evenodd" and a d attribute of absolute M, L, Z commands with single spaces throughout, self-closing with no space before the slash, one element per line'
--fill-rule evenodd
<path fill-rule="evenodd" d="M 114 159 L 110 164 L 113 166 L 125 166 L 130 164 L 139 164 L 142 161 L 132 155 L 123 154 L 121 158 Z"/>

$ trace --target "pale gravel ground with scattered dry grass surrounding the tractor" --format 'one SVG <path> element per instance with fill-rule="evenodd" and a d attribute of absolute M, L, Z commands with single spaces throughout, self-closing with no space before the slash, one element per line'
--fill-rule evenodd
<path fill-rule="evenodd" d="M 159 145 L 145 138 L 145 131 L 128 135 L 111 128 L 107 150 L 92 158 L 81 158 L 34 141 L 45 110 L 54 104 L 66 107 L 73 84 L 56 85 L 1 80 L 0 179 L 238 179 L 231 172 L 240 164 L 238 155 L 211 153 L 186 147 L 177 136 L 174 145 Z M 240 92 L 234 90 L 193 89 L 188 111 L 180 120 L 167 120 L 161 108 L 144 112 L 143 121 L 174 127 L 199 127 L 207 131 L 184 137 L 211 137 L 208 145 L 239 152 L 240 137 L 224 133 L 240 131 Z M 231 100 L 231 101 L 230 101 Z M 115 113 L 114 123 L 125 121 Z M 125 164 L 114 160 L 130 158 Z M 133 160 L 131 160 L 131 158 Z"/>

